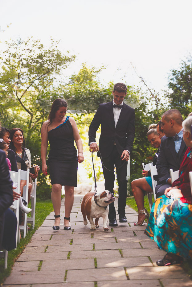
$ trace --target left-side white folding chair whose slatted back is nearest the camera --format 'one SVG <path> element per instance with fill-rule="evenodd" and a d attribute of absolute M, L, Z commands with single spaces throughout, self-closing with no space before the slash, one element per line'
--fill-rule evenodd
<path fill-rule="evenodd" d="M 17 171 L 9 171 L 10 178 L 13 182 L 18 183 L 17 189 L 15 191 L 20 194 L 20 183 L 21 183 L 21 170 Z M 17 231 L 16 231 L 16 246 L 17 243 L 20 242 L 20 234 L 19 234 L 19 199 L 15 199 L 13 204 L 10 206 L 17 217 Z"/>

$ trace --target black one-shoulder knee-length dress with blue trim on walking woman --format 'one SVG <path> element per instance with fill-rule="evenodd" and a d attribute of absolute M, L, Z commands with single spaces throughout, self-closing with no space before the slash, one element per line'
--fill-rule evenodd
<path fill-rule="evenodd" d="M 48 132 L 50 151 L 48 166 L 51 184 L 77 186 L 77 150 L 69 116 L 63 124 Z"/>

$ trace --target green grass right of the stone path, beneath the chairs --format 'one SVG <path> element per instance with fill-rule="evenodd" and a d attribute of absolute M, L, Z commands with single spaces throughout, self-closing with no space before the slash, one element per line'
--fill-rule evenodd
<path fill-rule="evenodd" d="M 153 197 L 153 195 L 152 195 L 152 197 Z M 153 202 L 154 202 L 154 197 L 153 197 Z M 127 197 L 127 205 L 138 212 L 137 204 L 135 202 L 134 196 Z M 145 197 L 144 197 L 144 206 L 148 210 L 148 212 L 150 213 L 149 201 L 148 201 L 147 195 L 145 195 Z M 192 261 L 190 259 L 187 260 L 187 261 L 184 261 L 181 264 L 181 266 L 185 270 L 185 272 L 190 276 L 190 279 L 192 279 L 192 267 L 191 267 L 192 266 Z"/>

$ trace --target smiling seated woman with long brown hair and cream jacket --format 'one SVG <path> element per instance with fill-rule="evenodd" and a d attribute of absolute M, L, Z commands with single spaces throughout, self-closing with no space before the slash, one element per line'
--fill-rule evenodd
<path fill-rule="evenodd" d="M 27 171 L 31 167 L 31 153 L 25 147 L 25 138 L 23 136 L 23 131 L 20 128 L 12 128 L 10 130 L 10 148 L 15 152 L 17 167 L 23 171 Z M 38 167 L 39 171 L 39 167 Z M 29 174 L 31 180 L 29 183 L 29 194 L 28 194 L 28 203 L 30 201 L 30 195 L 32 190 L 32 179 L 37 178 L 38 174 Z M 21 196 L 23 193 L 23 187 L 26 185 L 25 180 L 21 180 Z"/>

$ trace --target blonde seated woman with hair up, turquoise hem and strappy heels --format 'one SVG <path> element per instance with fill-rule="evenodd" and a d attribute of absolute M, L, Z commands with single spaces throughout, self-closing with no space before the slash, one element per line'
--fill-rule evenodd
<path fill-rule="evenodd" d="M 159 148 L 161 144 L 161 140 L 157 133 L 157 127 L 156 124 L 151 124 L 149 126 L 149 131 L 147 132 L 147 138 L 149 140 L 149 143 L 155 147 Z M 159 150 L 157 151 L 158 155 Z M 157 155 L 153 159 L 153 166 L 156 165 L 157 162 Z M 135 226 L 141 226 L 145 220 L 147 219 L 147 222 L 149 220 L 149 213 L 146 210 L 144 206 L 144 195 L 146 192 L 153 193 L 153 187 L 152 187 L 152 180 L 151 180 L 151 172 L 143 170 L 142 175 L 145 175 L 145 177 L 142 177 L 140 179 L 134 179 L 131 183 L 131 188 L 133 190 L 133 195 L 137 204 L 137 208 L 139 211 L 138 215 L 138 222 L 134 223 Z"/>

